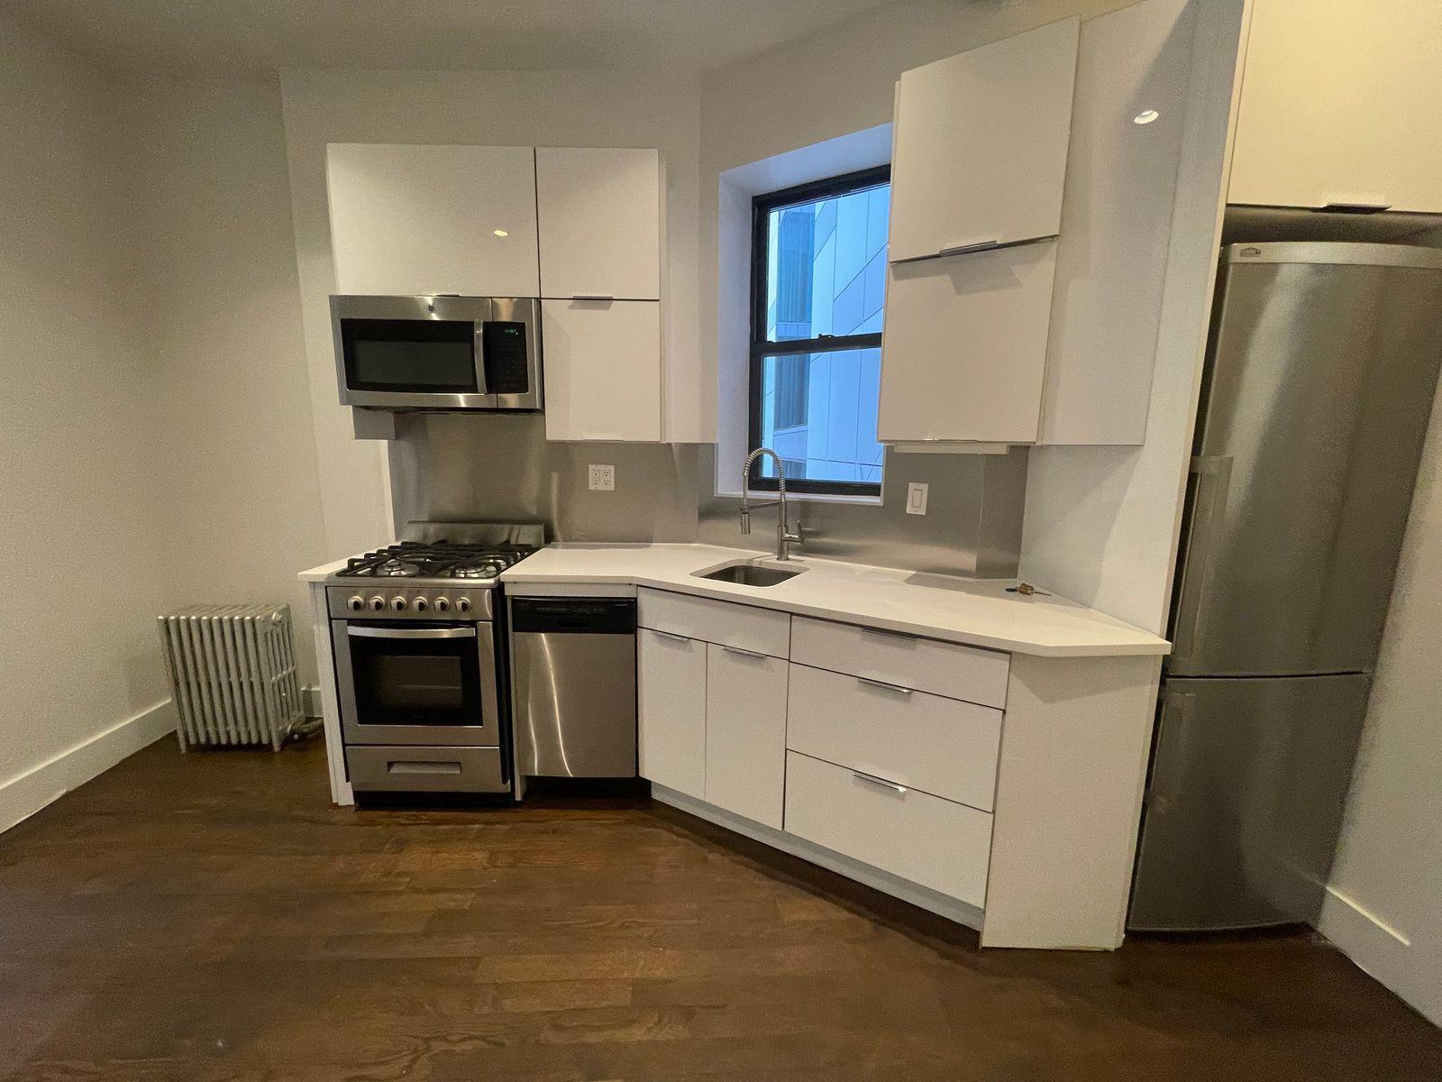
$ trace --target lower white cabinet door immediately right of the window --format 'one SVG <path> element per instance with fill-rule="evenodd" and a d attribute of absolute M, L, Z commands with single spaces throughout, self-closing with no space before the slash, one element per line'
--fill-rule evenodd
<path fill-rule="evenodd" d="M 1056 241 L 893 264 L 881 339 L 884 443 L 1032 443 Z"/>

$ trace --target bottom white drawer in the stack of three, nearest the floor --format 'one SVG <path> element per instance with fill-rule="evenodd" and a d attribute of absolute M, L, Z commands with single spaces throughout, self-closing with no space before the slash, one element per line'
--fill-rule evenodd
<path fill-rule="evenodd" d="M 973 906 L 986 902 L 992 817 L 786 753 L 786 831 Z"/>

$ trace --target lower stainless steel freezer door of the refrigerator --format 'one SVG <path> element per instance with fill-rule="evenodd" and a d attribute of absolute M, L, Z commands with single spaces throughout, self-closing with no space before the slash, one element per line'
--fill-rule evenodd
<path fill-rule="evenodd" d="M 1370 682 L 1165 681 L 1131 929 L 1315 923 Z"/>

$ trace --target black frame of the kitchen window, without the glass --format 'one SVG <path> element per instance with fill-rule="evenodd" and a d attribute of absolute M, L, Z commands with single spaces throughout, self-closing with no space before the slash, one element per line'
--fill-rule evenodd
<path fill-rule="evenodd" d="M 881 333 L 872 335 L 820 335 L 806 339 L 769 342 L 766 338 L 766 270 L 770 263 L 770 214 L 797 203 L 810 203 L 852 192 L 864 192 L 891 183 L 891 166 L 861 169 L 855 173 L 812 180 L 780 192 L 767 192 L 751 199 L 751 327 L 750 365 L 747 374 L 747 446 L 761 446 L 761 366 L 769 356 L 793 356 L 796 353 L 841 353 L 851 349 L 880 349 Z M 763 478 L 754 472 L 748 489 L 776 492 L 776 478 Z M 828 496 L 880 496 L 881 482 L 877 480 L 819 480 L 813 478 L 786 478 L 787 492 L 805 492 Z"/>

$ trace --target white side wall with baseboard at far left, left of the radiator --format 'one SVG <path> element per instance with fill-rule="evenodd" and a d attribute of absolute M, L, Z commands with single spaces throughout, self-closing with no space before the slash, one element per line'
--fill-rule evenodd
<path fill-rule="evenodd" d="M 111 117 L 87 63 L 0 20 L 0 830 L 169 723 L 167 492 L 117 290 Z"/>

